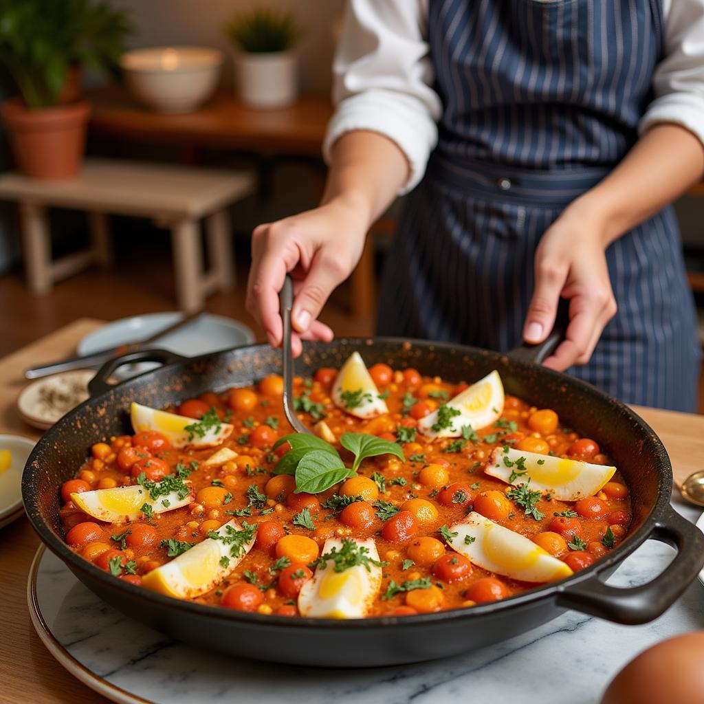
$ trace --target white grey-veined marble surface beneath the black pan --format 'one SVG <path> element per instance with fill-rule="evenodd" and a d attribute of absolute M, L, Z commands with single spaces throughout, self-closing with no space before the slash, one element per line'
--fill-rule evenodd
<path fill-rule="evenodd" d="M 688 506 L 676 508 L 692 521 L 699 515 Z M 669 546 L 648 541 L 609 583 L 647 582 L 666 569 L 673 555 Z M 234 660 L 173 641 L 100 601 L 48 551 L 37 574 L 37 602 L 49 629 L 73 658 L 120 689 L 160 704 L 301 699 L 307 704 L 449 704 L 470 695 L 495 704 L 598 704 L 610 679 L 641 650 L 704 628 L 704 586 L 697 580 L 665 615 L 643 626 L 567 612 L 510 641 L 446 660 L 313 670 Z"/>

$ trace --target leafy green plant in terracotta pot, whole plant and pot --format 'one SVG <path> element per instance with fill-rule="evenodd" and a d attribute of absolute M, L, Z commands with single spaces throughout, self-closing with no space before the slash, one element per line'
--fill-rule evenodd
<path fill-rule="evenodd" d="M 0 106 L 20 171 L 61 179 L 80 168 L 89 105 L 80 67 L 113 70 L 130 23 L 92 0 L 0 0 L 0 63 L 20 97 Z"/>

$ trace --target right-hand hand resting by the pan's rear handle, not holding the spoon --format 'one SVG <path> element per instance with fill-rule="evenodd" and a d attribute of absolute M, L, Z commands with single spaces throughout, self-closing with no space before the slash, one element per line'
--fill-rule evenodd
<path fill-rule="evenodd" d="M 603 232 L 598 220 L 570 206 L 546 230 L 536 250 L 535 287 L 524 340 L 539 343 L 546 339 L 555 324 L 560 298 L 570 301 L 565 340 L 545 360 L 546 367 L 564 371 L 589 362 L 605 325 L 616 314 Z"/>

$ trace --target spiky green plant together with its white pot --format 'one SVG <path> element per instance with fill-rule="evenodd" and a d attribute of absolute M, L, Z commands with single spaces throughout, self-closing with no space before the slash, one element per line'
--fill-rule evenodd
<path fill-rule="evenodd" d="M 234 43 L 235 75 L 244 103 L 280 108 L 296 101 L 298 71 L 294 46 L 301 29 L 291 13 L 253 8 L 225 28 Z"/>

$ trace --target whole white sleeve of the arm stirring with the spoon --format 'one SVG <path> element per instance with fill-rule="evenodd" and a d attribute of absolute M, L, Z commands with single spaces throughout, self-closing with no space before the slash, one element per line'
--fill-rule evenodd
<path fill-rule="evenodd" d="M 425 37 L 428 0 L 348 0 L 333 64 L 337 109 L 327 127 L 323 156 L 352 130 L 378 132 L 408 158 L 410 177 L 422 178 L 437 142 L 441 104 L 432 89 Z"/>

